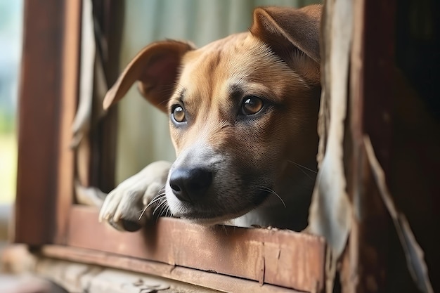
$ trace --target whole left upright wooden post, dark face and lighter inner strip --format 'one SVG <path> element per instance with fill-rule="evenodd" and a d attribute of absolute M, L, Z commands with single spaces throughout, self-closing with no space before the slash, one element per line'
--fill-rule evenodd
<path fill-rule="evenodd" d="M 25 1 L 14 240 L 30 245 L 64 241 L 73 198 L 81 1 L 50 2 Z"/>

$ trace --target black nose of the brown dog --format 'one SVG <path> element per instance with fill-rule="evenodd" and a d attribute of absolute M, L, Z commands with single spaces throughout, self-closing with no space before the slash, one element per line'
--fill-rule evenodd
<path fill-rule="evenodd" d="M 198 202 L 212 183 L 212 172 L 206 169 L 179 168 L 172 171 L 169 186 L 183 202 Z"/>

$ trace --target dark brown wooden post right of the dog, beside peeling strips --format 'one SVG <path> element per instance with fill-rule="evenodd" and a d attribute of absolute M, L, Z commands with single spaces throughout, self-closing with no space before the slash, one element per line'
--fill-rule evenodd
<path fill-rule="evenodd" d="M 350 112 L 344 159 L 354 207 L 342 260 L 343 292 L 386 292 L 391 219 L 373 181 L 363 136 L 375 142 L 382 166 L 389 162 L 394 72 L 394 0 L 354 1 Z"/>

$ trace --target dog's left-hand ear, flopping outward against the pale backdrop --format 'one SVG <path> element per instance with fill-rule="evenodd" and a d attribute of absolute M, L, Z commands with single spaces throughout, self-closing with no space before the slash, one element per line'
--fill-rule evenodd
<path fill-rule="evenodd" d="M 103 101 L 104 109 L 122 99 L 134 82 L 141 94 L 163 112 L 172 95 L 182 56 L 193 46 L 182 41 L 158 41 L 142 49 L 119 76 Z"/>

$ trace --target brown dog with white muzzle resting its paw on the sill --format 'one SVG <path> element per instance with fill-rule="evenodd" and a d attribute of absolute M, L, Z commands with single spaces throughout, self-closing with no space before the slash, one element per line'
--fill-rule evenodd
<path fill-rule="evenodd" d="M 317 168 L 321 10 L 256 8 L 249 32 L 202 48 L 174 40 L 143 48 L 103 106 L 138 81 L 169 115 L 176 160 L 119 184 L 100 221 L 138 230 L 164 214 L 209 226 L 304 229 Z"/>

